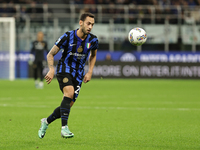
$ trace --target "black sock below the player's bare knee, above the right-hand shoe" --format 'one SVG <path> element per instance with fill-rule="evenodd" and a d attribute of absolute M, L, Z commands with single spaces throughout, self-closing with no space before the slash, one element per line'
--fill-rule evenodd
<path fill-rule="evenodd" d="M 67 125 L 69 113 L 70 113 L 70 103 L 72 99 L 69 97 L 64 97 L 63 101 L 61 102 L 60 105 L 60 116 L 61 116 L 61 121 L 62 121 L 62 126 Z"/>

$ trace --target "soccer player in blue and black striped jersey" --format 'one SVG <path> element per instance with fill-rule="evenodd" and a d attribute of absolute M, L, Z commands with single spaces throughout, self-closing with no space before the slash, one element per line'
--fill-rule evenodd
<path fill-rule="evenodd" d="M 38 131 L 39 138 L 44 137 L 48 125 L 58 118 L 61 118 L 62 123 L 61 136 L 64 138 L 74 136 L 68 128 L 70 108 L 78 97 L 82 81 L 87 83 L 91 80 L 98 48 L 97 37 L 90 33 L 94 25 L 94 15 L 83 13 L 80 16 L 79 25 L 79 29 L 63 34 L 47 55 L 49 72 L 45 76 L 45 79 L 47 84 L 49 84 L 54 77 L 54 56 L 60 49 L 63 49 L 62 57 L 56 69 L 56 77 L 60 90 L 63 93 L 63 99 L 61 105 L 48 118 L 41 120 L 41 127 Z M 84 66 L 88 55 L 89 70 L 85 74 Z"/>

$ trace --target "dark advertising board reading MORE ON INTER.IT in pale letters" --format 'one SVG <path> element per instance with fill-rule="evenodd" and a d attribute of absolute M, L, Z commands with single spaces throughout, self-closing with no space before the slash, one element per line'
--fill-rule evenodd
<path fill-rule="evenodd" d="M 88 65 L 85 67 L 87 72 Z M 199 79 L 199 63 L 97 62 L 93 78 Z"/>

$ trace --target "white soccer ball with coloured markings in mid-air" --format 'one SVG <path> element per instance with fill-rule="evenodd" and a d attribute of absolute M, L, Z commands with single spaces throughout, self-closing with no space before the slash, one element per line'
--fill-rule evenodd
<path fill-rule="evenodd" d="M 128 34 L 128 40 L 131 44 L 135 46 L 140 46 L 144 44 L 147 40 L 146 31 L 142 28 L 133 28 Z"/>

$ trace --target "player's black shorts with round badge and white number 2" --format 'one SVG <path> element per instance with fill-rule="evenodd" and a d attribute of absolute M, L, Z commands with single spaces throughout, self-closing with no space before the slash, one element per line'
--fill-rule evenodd
<path fill-rule="evenodd" d="M 78 82 L 69 73 L 66 73 L 66 74 L 57 74 L 56 77 L 57 77 L 57 80 L 58 80 L 58 83 L 59 83 L 59 86 L 60 86 L 60 90 L 62 92 L 63 92 L 63 88 L 65 86 L 72 85 L 74 87 L 74 98 L 73 98 L 73 101 L 75 102 L 76 99 L 77 99 L 77 97 L 78 97 L 78 95 L 79 95 L 82 82 Z"/>

